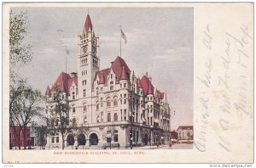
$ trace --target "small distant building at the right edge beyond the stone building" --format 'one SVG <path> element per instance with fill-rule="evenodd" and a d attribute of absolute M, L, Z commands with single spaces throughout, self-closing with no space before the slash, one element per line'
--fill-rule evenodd
<path fill-rule="evenodd" d="M 177 128 L 177 140 L 193 140 L 194 132 L 193 126 L 178 126 Z"/>

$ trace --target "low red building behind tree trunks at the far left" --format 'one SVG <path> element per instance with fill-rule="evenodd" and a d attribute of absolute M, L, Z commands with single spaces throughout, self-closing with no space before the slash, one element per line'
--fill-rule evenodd
<path fill-rule="evenodd" d="M 26 138 L 24 139 L 24 128 L 20 129 L 20 126 L 11 126 L 9 128 L 10 146 L 11 147 L 26 147 L 30 145 L 30 127 L 26 127 Z"/>

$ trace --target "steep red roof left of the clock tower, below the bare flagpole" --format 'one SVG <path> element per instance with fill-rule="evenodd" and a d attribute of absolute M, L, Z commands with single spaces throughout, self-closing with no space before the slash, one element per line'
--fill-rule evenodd
<path fill-rule="evenodd" d="M 75 85 L 78 86 L 78 76 L 69 76 L 65 72 L 61 72 L 61 75 L 57 78 L 55 81 L 55 85 L 61 87 L 61 92 L 70 92 L 70 87 L 72 86 L 73 81 L 75 82 Z M 54 88 L 51 88 L 51 91 L 54 91 Z"/>

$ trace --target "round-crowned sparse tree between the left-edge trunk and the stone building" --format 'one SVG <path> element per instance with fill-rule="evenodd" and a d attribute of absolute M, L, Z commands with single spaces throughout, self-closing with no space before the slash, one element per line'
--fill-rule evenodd
<path fill-rule="evenodd" d="M 42 104 L 43 97 L 41 92 L 33 90 L 32 87 L 27 87 L 26 85 L 20 87 L 18 91 L 19 94 L 17 93 L 15 100 L 12 102 L 12 107 L 10 108 L 10 120 L 13 122 L 14 126 L 20 126 L 20 131 L 23 134 L 24 149 L 26 149 L 27 126 L 32 124 L 34 117 L 42 116 L 41 111 L 43 108 L 40 107 L 40 104 Z"/>

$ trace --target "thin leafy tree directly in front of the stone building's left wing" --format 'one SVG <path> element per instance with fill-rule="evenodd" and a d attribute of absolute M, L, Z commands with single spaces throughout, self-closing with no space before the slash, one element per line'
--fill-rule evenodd
<path fill-rule="evenodd" d="M 65 137 L 69 132 L 74 132 L 77 128 L 77 121 L 69 118 L 69 105 L 65 98 L 62 98 L 63 92 L 61 87 L 55 85 L 53 87 L 53 93 L 50 94 L 50 98 L 46 98 L 48 104 L 52 104 L 54 109 L 48 116 L 48 126 L 50 134 L 54 135 L 56 132 L 61 133 L 62 149 L 65 145 Z"/>

